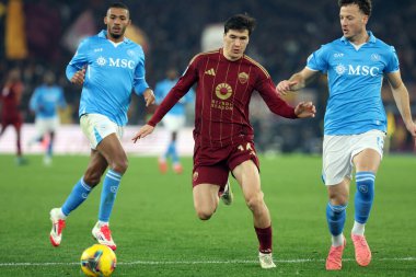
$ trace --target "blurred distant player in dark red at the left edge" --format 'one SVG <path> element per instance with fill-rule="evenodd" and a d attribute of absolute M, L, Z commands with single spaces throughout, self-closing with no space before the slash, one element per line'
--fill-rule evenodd
<path fill-rule="evenodd" d="M 0 102 L 2 103 L 0 137 L 3 135 L 5 128 L 9 125 L 12 125 L 14 127 L 16 131 L 18 165 L 22 165 L 26 162 L 23 159 L 21 146 L 21 129 L 23 125 L 23 117 L 20 112 L 20 103 L 23 94 L 23 83 L 20 79 L 20 70 L 12 69 L 8 74 L 0 95 Z"/>

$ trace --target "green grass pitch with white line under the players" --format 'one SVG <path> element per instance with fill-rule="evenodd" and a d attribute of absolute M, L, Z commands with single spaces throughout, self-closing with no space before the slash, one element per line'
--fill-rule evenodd
<path fill-rule="evenodd" d="M 0 276 L 82 276 L 79 258 L 92 245 L 101 186 L 67 220 L 62 243 L 49 243 L 49 210 L 62 204 L 88 163 L 86 157 L 42 157 L 16 166 L 0 157 Z M 375 201 L 367 238 L 373 261 L 367 268 L 354 259 L 349 240 L 354 205 L 347 209 L 347 249 L 340 273 L 327 273 L 330 247 L 325 220 L 326 189 L 321 158 L 261 157 L 262 186 L 271 212 L 277 268 L 257 263 L 252 217 L 232 181 L 235 200 L 220 204 L 209 221 L 195 216 L 190 170 L 159 174 L 155 158 L 129 158 L 129 169 L 112 215 L 117 243 L 113 276 L 416 276 L 416 159 L 384 158 L 375 181 Z M 351 199 L 355 185 L 351 185 Z"/>

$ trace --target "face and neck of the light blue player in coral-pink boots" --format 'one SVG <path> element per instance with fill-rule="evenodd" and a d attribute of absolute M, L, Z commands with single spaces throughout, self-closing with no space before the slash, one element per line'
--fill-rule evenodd
<path fill-rule="evenodd" d="M 366 35 L 368 15 L 360 11 L 358 4 L 342 7 L 339 11 L 339 21 L 343 34 L 347 39 L 356 42 Z"/>

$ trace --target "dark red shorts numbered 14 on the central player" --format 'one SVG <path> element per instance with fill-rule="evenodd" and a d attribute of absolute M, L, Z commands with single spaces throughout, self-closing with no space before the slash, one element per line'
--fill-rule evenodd
<path fill-rule="evenodd" d="M 257 169 L 259 162 L 253 141 L 226 147 L 210 147 L 195 143 L 193 186 L 213 184 L 223 188 L 229 173 L 244 161 L 252 160 Z"/>

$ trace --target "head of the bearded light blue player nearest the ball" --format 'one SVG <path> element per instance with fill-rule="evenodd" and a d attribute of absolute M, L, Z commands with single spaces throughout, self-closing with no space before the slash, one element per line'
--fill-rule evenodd
<path fill-rule="evenodd" d="M 127 26 L 130 25 L 128 10 L 122 8 L 108 9 L 104 23 L 107 25 L 107 36 L 109 39 L 114 42 L 123 41 L 124 33 Z"/>

